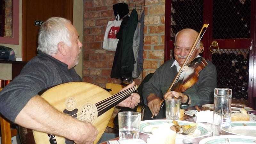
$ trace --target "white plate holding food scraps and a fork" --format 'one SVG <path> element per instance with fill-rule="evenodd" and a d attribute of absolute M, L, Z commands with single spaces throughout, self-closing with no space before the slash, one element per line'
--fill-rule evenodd
<path fill-rule="evenodd" d="M 188 128 L 196 126 L 196 130 L 188 135 L 181 134 Z M 151 132 L 156 129 L 165 129 L 170 127 L 173 131 L 176 131 L 177 139 L 190 139 L 209 135 L 212 133 L 211 127 L 208 127 L 202 123 L 193 123 L 182 120 L 166 120 L 166 119 L 156 119 L 156 120 L 145 120 L 140 122 L 140 132 L 152 134 Z"/>

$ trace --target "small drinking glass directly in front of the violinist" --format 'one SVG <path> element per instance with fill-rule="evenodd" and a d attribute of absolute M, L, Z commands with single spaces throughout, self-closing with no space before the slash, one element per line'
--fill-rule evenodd
<path fill-rule="evenodd" d="M 165 100 L 166 119 L 178 120 L 180 117 L 180 99 Z"/>

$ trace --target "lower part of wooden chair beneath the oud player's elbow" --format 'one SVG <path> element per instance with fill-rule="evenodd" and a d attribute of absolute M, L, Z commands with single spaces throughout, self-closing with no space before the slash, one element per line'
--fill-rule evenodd
<path fill-rule="evenodd" d="M 17 129 L 11 129 L 10 121 L 0 116 L 1 144 L 12 144 L 12 137 L 17 135 Z"/>

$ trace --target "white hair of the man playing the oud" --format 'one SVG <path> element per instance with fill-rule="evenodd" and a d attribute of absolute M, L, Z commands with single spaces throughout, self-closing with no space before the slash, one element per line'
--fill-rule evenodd
<path fill-rule="evenodd" d="M 58 52 L 59 42 L 71 46 L 69 31 L 66 27 L 69 23 L 71 24 L 70 20 L 59 17 L 47 19 L 39 29 L 37 50 L 52 56 Z"/>

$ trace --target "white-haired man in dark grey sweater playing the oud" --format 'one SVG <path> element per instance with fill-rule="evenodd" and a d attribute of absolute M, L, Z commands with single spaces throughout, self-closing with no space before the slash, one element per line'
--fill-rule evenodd
<path fill-rule="evenodd" d="M 0 93 L 0 113 L 4 117 L 23 127 L 62 136 L 77 144 L 91 144 L 95 140 L 98 131 L 91 123 L 59 112 L 37 95 L 49 87 L 82 81 L 74 69 L 82 47 L 78 37 L 76 28 L 67 19 L 52 17 L 44 22 L 38 35 L 38 55 Z M 134 83 L 124 89 L 133 86 Z M 138 102 L 140 96 L 132 94 L 118 105 L 134 108 Z"/>

